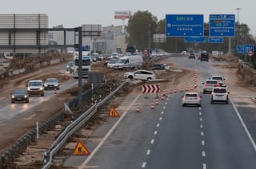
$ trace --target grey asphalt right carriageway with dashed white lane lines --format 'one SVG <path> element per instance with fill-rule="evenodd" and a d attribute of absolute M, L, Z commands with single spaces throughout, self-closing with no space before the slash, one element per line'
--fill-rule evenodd
<path fill-rule="evenodd" d="M 255 107 L 249 100 L 254 93 L 247 92 L 246 96 L 234 93 L 232 97 L 231 92 L 230 104 L 210 104 L 210 95 L 202 94 L 201 82 L 219 74 L 218 69 L 208 62 L 188 61 L 186 57 L 170 59 L 198 72 L 202 106 L 182 107 L 183 92 L 173 92 L 159 100 L 153 109 L 150 103 L 154 95 L 145 99 L 142 94 L 131 94 L 118 108 L 120 119 L 102 124 L 86 141 L 91 154 L 70 155 L 64 166 L 81 169 L 255 168 L 255 136 L 250 134 L 252 125 L 248 124 L 247 130 L 244 124 L 250 119 L 244 112 L 251 112 Z M 140 112 L 134 111 L 137 103 Z"/>

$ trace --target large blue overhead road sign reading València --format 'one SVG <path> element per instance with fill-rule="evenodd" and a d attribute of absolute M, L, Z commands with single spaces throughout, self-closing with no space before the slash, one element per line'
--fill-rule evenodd
<path fill-rule="evenodd" d="M 166 14 L 166 37 L 202 36 L 203 14 Z"/>

